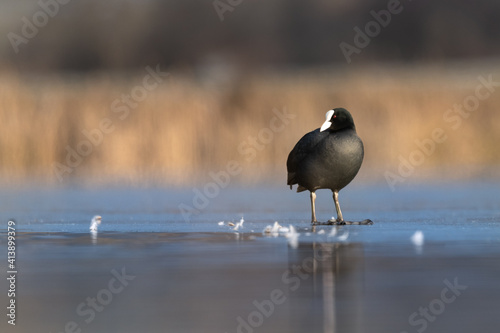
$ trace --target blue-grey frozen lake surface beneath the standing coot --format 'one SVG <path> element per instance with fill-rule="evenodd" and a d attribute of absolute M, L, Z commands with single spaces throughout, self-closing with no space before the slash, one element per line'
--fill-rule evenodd
<path fill-rule="evenodd" d="M 340 194 L 344 217 L 375 224 L 314 229 L 308 193 L 287 187 L 205 200 L 193 189 L 3 189 L 3 258 L 9 219 L 18 232 L 15 329 L 496 333 L 499 185 L 354 184 Z M 326 221 L 331 193 L 317 194 Z M 297 242 L 263 234 L 275 221 Z M 0 288 L 7 299 L 5 279 Z M 2 316 L 0 331 L 14 331 Z"/>

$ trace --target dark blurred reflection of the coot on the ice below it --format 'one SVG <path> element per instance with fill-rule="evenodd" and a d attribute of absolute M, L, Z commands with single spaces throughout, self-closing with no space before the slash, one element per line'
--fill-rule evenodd
<path fill-rule="evenodd" d="M 364 254 L 356 243 L 300 243 L 289 252 L 291 325 L 297 332 L 358 332 Z M 340 306 L 342 305 L 342 306 Z M 307 317 L 307 320 L 306 320 Z M 301 327 L 307 323 L 307 327 Z M 312 326 L 313 327 L 312 327 Z"/>

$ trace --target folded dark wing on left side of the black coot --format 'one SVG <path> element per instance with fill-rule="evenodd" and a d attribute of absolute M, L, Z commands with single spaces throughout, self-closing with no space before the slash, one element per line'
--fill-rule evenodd
<path fill-rule="evenodd" d="M 295 147 L 293 147 L 286 161 L 286 168 L 288 171 L 288 185 L 292 186 L 293 184 L 297 184 L 297 181 L 295 179 L 295 172 L 297 171 L 297 167 L 300 161 L 302 161 L 307 155 L 309 155 L 314 147 L 327 135 L 327 131 L 320 132 L 318 128 L 304 135 L 299 140 L 299 142 L 297 142 Z"/>

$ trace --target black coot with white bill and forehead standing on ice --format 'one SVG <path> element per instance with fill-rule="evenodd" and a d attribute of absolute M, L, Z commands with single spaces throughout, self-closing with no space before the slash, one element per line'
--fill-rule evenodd
<path fill-rule="evenodd" d="M 316 190 L 330 189 L 337 210 L 333 224 L 346 224 L 339 204 L 339 191 L 349 184 L 361 167 L 363 142 L 356 133 L 351 114 L 344 108 L 335 108 L 326 113 L 321 128 L 307 133 L 297 142 L 288 155 L 287 184 L 298 184 L 297 192 L 311 192 L 312 224 L 318 223 L 314 201 Z M 347 222 L 348 224 L 371 224 L 370 220 Z"/>

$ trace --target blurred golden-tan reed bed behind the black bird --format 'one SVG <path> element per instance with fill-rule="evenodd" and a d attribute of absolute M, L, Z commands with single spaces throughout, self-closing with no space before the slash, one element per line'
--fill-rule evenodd
<path fill-rule="evenodd" d="M 440 68 L 365 68 L 315 70 L 237 76 L 214 83 L 185 73 L 171 75 L 150 91 L 129 114 L 112 103 L 142 85 L 146 72 L 86 76 L 30 76 L 5 72 L 0 77 L 0 177 L 3 183 L 193 185 L 210 172 L 236 161 L 232 177 L 245 184 L 285 184 L 286 158 L 300 137 L 318 128 L 327 110 L 351 111 L 365 142 L 360 180 L 383 181 L 398 172 L 400 157 L 418 149 L 435 128 L 444 143 L 415 167 L 411 181 L 422 178 L 498 177 L 500 164 L 500 91 L 480 102 L 456 129 L 443 118 L 454 104 L 473 95 L 485 68 L 457 72 Z M 293 114 L 284 130 L 270 128 L 273 110 Z M 76 149 L 83 130 L 113 130 L 70 173 L 56 176 L 67 147 Z M 279 124 L 279 123 L 278 123 Z M 254 139 L 252 139 L 253 137 Z M 255 154 L 242 153 L 257 140 Z M 239 149 L 240 147 L 240 149 Z M 255 146 L 254 146 L 255 147 Z"/>

